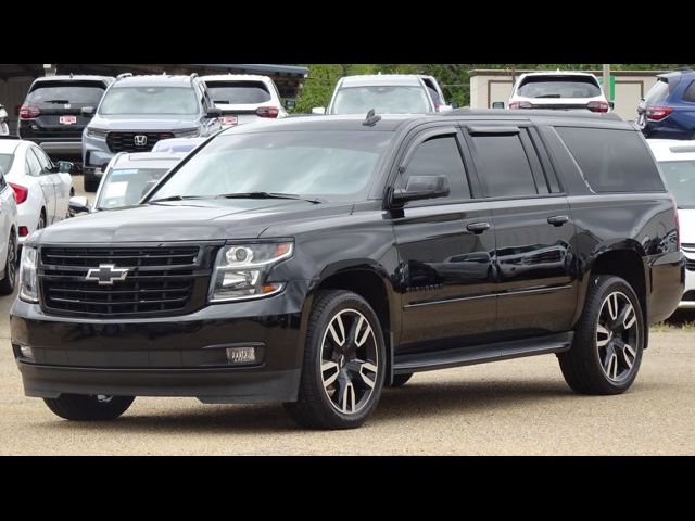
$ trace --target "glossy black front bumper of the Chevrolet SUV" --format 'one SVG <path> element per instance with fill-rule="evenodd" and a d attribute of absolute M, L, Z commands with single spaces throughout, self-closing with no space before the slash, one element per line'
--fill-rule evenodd
<path fill-rule="evenodd" d="M 216 304 L 193 314 L 98 320 L 47 316 L 16 301 L 12 346 L 27 396 L 63 393 L 194 396 L 206 403 L 293 402 L 303 353 L 308 283 L 279 295 Z M 226 348 L 254 345 L 256 365 L 232 366 Z M 22 355 L 29 346 L 33 358 Z"/>

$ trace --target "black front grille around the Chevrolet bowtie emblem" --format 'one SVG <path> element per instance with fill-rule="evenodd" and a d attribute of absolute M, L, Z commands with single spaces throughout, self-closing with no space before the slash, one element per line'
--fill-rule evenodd
<path fill-rule="evenodd" d="M 200 246 L 42 247 L 41 303 L 47 312 L 99 317 L 189 313 L 203 305 L 210 281 L 210 255 L 202 253 L 208 252 Z M 128 271 L 111 284 L 87 279 L 90 269 L 104 265 L 108 271 Z"/>

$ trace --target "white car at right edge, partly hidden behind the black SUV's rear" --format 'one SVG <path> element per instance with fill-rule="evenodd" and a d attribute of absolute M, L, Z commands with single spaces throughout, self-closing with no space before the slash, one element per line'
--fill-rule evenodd
<path fill-rule="evenodd" d="M 685 255 L 685 289 L 678 307 L 695 309 L 695 143 L 670 139 L 647 142 L 678 204 L 681 250 Z"/>

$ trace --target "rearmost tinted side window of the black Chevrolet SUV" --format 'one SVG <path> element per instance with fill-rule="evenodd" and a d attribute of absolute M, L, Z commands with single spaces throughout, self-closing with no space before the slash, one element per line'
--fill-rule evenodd
<path fill-rule="evenodd" d="M 656 163 L 636 131 L 556 127 L 594 192 L 662 191 Z"/>

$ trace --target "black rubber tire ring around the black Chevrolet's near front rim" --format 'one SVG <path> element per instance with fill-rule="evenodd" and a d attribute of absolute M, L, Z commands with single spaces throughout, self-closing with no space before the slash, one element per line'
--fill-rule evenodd
<path fill-rule="evenodd" d="M 315 328 L 314 331 L 312 331 L 312 336 L 307 339 L 308 352 L 305 356 L 308 356 L 308 360 L 305 360 L 304 370 L 309 371 L 307 378 L 312 379 L 312 387 L 314 387 L 316 390 L 315 392 L 319 394 L 320 402 L 324 404 L 327 411 L 332 412 L 332 415 L 334 415 L 341 423 L 362 423 L 379 403 L 386 379 L 386 345 L 383 341 L 383 333 L 381 331 L 381 325 L 379 323 L 377 315 L 374 313 L 369 304 L 367 304 L 367 302 L 359 295 L 352 292 L 337 292 L 331 295 L 330 298 L 331 300 L 329 305 L 323 307 L 317 317 L 312 317 L 314 320 L 316 320 L 316 323 L 319 327 Z M 320 373 L 321 342 L 324 333 L 326 332 L 326 328 L 330 323 L 330 320 L 341 310 L 351 308 L 362 313 L 369 321 L 369 326 L 371 326 L 371 330 L 374 331 L 375 339 L 377 341 L 379 370 L 377 372 L 377 381 L 372 394 L 369 398 L 369 403 L 357 414 L 345 415 L 333 407 L 330 398 L 324 391 L 324 381 Z"/>

